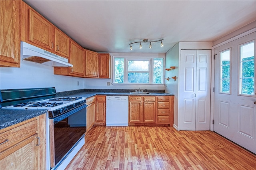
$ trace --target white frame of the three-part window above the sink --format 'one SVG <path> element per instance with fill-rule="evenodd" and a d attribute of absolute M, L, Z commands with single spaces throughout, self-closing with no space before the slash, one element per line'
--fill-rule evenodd
<path fill-rule="evenodd" d="M 124 58 L 124 83 L 115 83 L 115 58 Z M 153 65 L 153 61 L 154 59 L 158 59 L 158 58 L 162 58 L 163 59 L 163 64 L 162 64 L 162 84 L 156 84 L 156 83 L 152 83 L 153 80 L 153 76 L 154 76 L 154 65 Z M 128 83 L 128 72 L 134 72 L 134 71 L 128 71 L 128 61 L 130 60 L 137 60 L 137 61 L 149 61 L 149 83 Z M 131 86 L 138 86 L 138 85 L 143 85 L 143 86 L 164 86 L 165 85 L 165 81 L 164 81 L 164 74 L 165 74 L 165 56 L 140 56 L 140 57 L 136 57 L 136 56 L 113 56 L 113 71 L 112 71 L 112 75 L 113 75 L 113 79 L 112 79 L 112 85 L 131 85 Z M 148 71 L 136 71 L 136 72 L 148 72 Z"/>

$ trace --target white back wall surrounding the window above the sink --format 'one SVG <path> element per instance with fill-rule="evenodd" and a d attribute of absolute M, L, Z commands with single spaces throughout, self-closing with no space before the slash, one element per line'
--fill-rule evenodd
<path fill-rule="evenodd" d="M 113 58 L 114 57 L 124 57 L 124 56 L 165 56 L 165 53 L 110 53 L 111 55 L 111 67 L 113 69 Z M 110 86 L 107 85 L 110 82 Z M 93 79 L 86 78 L 84 82 L 85 89 L 154 89 L 154 90 L 164 90 L 164 86 L 142 86 L 142 85 L 112 85 L 113 83 L 113 71 L 111 72 L 111 79 Z"/>

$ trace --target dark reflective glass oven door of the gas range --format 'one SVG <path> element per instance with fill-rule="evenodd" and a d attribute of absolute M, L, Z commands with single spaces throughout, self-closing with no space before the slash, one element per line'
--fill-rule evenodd
<path fill-rule="evenodd" d="M 50 167 L 53 168 L 68 155 L 74 144 L 86 132 L 86 105 L 49 119 Z"/>

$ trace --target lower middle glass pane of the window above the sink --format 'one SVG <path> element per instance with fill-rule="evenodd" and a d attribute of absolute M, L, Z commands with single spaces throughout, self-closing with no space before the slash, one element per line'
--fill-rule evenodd
<path fill-rule="evenodd" d="M 128 73 L 128 83 L 149 83 L 149 73 Z"/>

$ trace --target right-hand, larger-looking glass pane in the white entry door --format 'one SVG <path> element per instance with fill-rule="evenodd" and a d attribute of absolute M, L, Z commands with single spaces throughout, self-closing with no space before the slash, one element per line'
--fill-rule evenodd
<path fill-rule="evenodd" d="M 239 94 L 254 95 L 254 42 L 240 45 Z"/>

